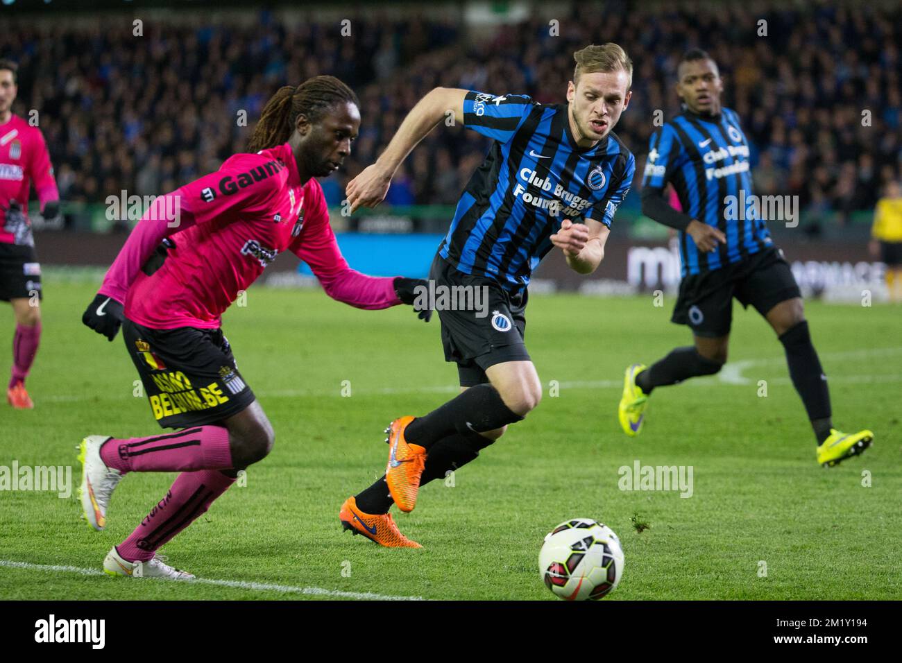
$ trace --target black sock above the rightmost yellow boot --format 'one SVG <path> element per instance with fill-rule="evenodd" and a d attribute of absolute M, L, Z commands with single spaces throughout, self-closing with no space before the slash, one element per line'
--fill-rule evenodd
<path fill-rule="evenodd" d="M 817 443 L 821 444 L 830 436 L 830 390 L 821 361 L 817 358 L 815 346 L 811 343 L 808 323 L 803 320 L 780 336 L 780 343 L 786 349 L 789 377 L 805 403 L 808 419 L 815 429 Z"/>

